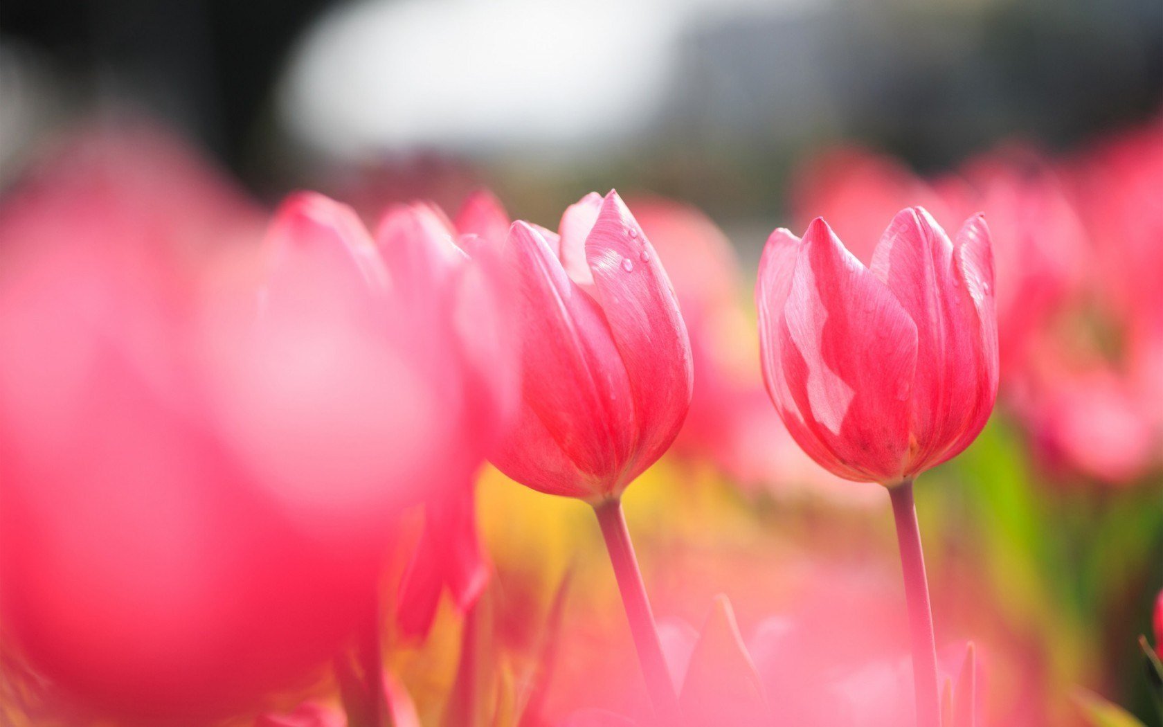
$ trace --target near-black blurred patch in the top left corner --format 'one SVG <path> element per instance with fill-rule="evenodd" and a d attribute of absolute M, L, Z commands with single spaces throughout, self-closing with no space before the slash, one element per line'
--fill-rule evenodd
<path fill-rule="evenodd" d="M 237 169 L 291 42 L 327 0 L 10 0 L 0 28 L 88 93 L 144 105 Z"/>

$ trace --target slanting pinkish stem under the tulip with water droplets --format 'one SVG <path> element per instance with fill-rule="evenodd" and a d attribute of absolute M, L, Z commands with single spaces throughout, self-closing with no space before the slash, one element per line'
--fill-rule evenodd
<path fill-rule="evenodd" d="M 622 501 L 607 500 L 594 505 L 593 512 L 598 515 L 601 536 L 606 541 L 606 550 L 609 551 L 609 559 L 614 565 L 618 590 L 622 593 L 626 618 L 630 622 L 634 646 L 638 651 L 638 663 L 642 665 L 642 675 L 645 677 L 655 712 L 664 720 L 662 724 L 679 725 L 678 697 L 675 694 L 675 685 L 670 680 L 666 660 L 662 654 L 658 627 L 655 625 L 654 612 L 650 611 L 650 601 L 647 599 L 647 589 L 642 583 L 642 571 L 638 570 L 634 546 L 630 543 L 630 533 L 626 528 Z"/>

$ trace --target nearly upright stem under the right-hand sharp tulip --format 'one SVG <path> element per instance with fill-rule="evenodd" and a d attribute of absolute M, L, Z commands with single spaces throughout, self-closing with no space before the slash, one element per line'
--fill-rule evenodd
<path fill-rule="evenodd" d="M 937 649 L 933 635 L 929 583 L 925 576 L 921 529 L 916 523 L 913 480 L 889 489 L 892 514 L 897 521 L 897 544 L 905 572 L 905 600 L 908 604 L 909 640 L 913 650 L 913 683 L 916 694 L 918 727 L 941 727 L 941 699 L 937 692 Z"/>

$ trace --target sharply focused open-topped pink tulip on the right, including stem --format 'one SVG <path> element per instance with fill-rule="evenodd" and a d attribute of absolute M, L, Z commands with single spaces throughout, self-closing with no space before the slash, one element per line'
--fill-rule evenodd
<path fill-rule="evenodd" d="M 822 219 L 777 229 L 759 263 L 762 361 L 787 430 L 840 477 L 890 490 L 912 621 L 918 717 L 940 721 L 936 656 L 913 479 L 962 451 L 998 390 L 990 235 L 954 241 L 900 212 L 865 268 Z"/>

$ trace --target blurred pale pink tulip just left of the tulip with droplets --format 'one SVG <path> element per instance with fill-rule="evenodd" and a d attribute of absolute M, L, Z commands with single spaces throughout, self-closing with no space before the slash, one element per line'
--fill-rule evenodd
<path fill-rule="evenodd" d="M 373 241 L 350 208 L 298 194 L 267 247 L 257 315 L 219 347 L 223 420 L 304 527 L 383 542 L 401 508 L 465 490 L 499 426 L 504 337 L 468 321 L 498 320 L 494 287 L 423 205 Z"/>

